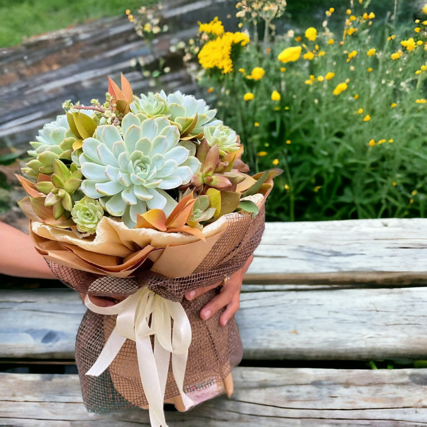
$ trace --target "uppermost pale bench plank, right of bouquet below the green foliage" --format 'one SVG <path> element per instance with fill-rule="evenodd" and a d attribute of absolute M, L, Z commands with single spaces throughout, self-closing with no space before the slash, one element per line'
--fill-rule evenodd
<path fill-rule="evenodd" d="M 427 283 L 427 219 L 268 222 L 247 280 Z"/>

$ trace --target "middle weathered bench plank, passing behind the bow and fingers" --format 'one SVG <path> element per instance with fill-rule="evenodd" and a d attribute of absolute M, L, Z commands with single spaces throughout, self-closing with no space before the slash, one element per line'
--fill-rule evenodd
<path fill-rule="evenodd" d="M 236 315 L 245 359 L 427 356 L 427 289 L 245 292 Z M 85 307 L 71 290 L 2 291 L 0 357 L 73 358 Z"/>

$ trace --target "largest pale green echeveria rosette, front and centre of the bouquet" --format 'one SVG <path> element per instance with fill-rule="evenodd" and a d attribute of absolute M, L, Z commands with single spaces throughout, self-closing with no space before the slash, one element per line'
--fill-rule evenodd
<path fill-rule="evenodd" d="M 200 162 L 179 143 L 179 129 L 166 117 L 141 122 L 129 113 L 122 133 L 113 125 L 98 126 L 94 137 L 83 141 L 79 157 L 82 191 L 99 199 L 113 216 L 122 216 L 135 228 L 136 214 L 161 209 L 169 215 L 177 202 L 165 190 L 190 182 Z"/>

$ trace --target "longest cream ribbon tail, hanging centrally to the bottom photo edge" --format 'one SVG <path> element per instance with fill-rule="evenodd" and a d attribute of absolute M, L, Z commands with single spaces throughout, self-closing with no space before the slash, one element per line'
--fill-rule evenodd
<path fill-rule="evenodd" d="M 164 394 L 161 394 L 159 374 L 150 337 L 136 336 L 136 348 L 142 388 L 149 404 L 151 424 L 153 427 L 167 427 L 163 412 Z"/>

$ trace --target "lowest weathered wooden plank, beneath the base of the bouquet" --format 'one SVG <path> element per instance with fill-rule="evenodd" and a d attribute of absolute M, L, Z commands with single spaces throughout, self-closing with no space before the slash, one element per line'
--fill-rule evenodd
<path fill-rule="evenodd" d="M 167 412 L 169 426 L 427 424 L 426 369 L 236 368 L 233 377 L 231 399 L 220 397 L 187 413 Z M 0 414 L 0 425 L 15 427 L 149 425 L 148 413 L 141 409 L 88 413 L 77 375 L 0 374 Z"/>

